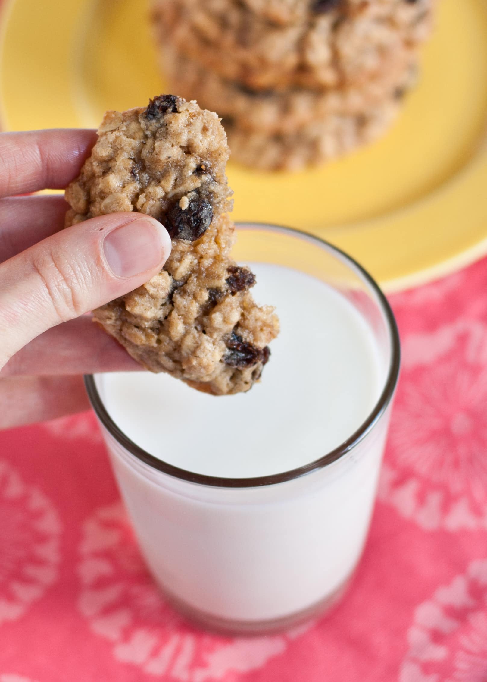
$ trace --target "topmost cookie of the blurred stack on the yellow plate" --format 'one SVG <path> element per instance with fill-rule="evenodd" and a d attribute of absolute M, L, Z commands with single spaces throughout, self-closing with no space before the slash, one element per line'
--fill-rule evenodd
<path fill-rule="evenodd" d="M 252 89 L 362 85 L 396 70 L 429 35 L 435 0 L 304 3 L 276 25 L 238 0 L 155 0 L 156 38 Z"/>

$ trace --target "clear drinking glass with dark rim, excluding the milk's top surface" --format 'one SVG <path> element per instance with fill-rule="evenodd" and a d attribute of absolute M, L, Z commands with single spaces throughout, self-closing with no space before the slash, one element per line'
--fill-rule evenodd
<path fill-rule="evenodd" d="M 381 360 L 379 398 L 339 447 L 261 477 L 185 471 L 144 451 L 114 423 L 103 374 L 85 381 L 140 549 L 163 593 L 204 627 L 257 634 L 324 612 L 354 573 L 373 511 L 400 349 L 379 286 L 329 243 L 281 226 L 240 224 L 234 258 L 326 282 L 371 329 Z M 161 432 L 170 428 L 161 414 Z"/>

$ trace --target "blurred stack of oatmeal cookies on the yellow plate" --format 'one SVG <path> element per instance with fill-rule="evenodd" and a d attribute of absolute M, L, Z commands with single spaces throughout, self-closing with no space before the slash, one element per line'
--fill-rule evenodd
<path fill-rule="evenodd" d="M 435 0 L 155 0 L 172 89 L 223 119 L 233 158 L 294 170 L 380 136 Z"/>

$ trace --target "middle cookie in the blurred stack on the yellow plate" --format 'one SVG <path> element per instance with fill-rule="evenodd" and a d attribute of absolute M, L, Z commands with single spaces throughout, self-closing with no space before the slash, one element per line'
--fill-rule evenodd
<path fill-rule="evenodd" d="M 314 91 L 292 88 L 287 91 L 255 91 L 225 80 L 192 59 L 175 52 L 168 44 L 163 51 L 163 72 L 181 95 L 231 120 L 240 130 L 267 134 L 292 134 L 304 125 L 319 123 L 330 115 L 360 115 L 371 106 L 400 99 L 413 87 L 417 55 L 405 53 L 396 71 L 370 80 L 362 87 Z"/>

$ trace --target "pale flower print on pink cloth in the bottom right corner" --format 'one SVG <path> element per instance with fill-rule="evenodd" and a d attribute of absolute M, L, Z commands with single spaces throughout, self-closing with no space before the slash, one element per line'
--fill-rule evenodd
<path fill-rule="evenodd" d="M 487 559 L 415 609 L 399 682 L 487 680 Z"/>

